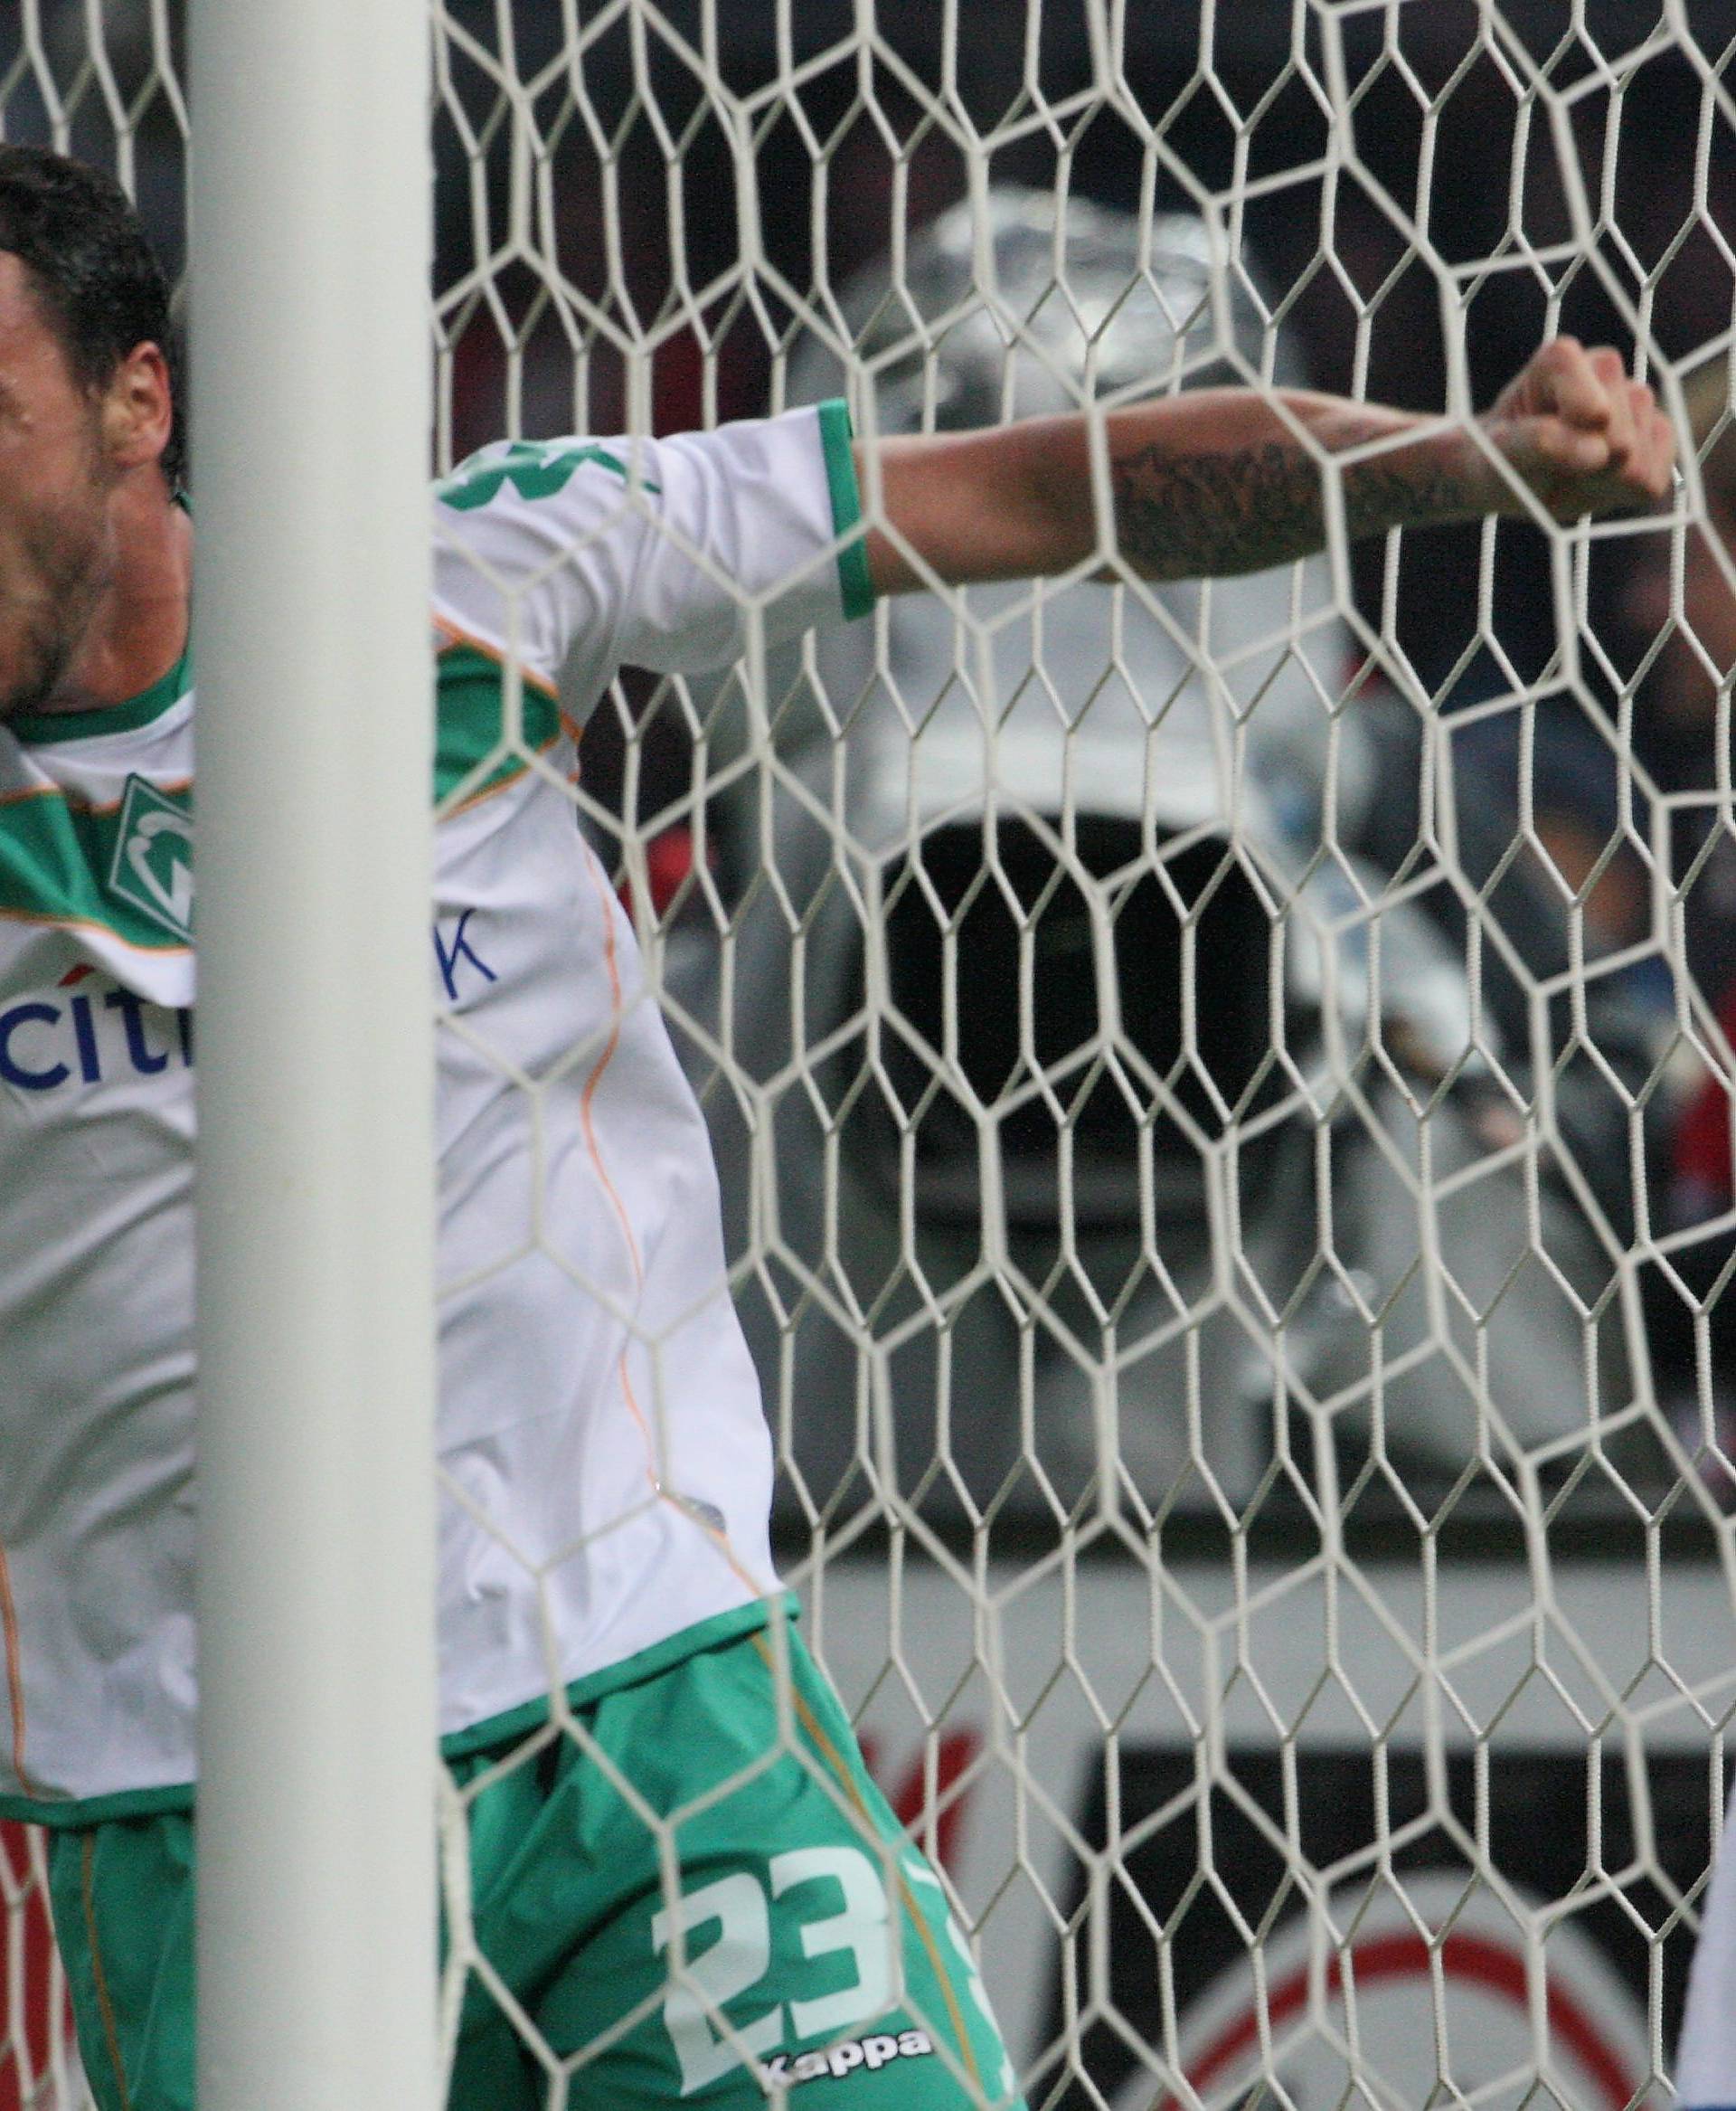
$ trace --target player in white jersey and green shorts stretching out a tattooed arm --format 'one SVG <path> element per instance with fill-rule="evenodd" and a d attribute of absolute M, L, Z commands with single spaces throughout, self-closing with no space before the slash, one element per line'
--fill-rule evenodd
<path fill-rule="evenodd" d="M 165 331 L 122 194 L 0 148 L 0 1811 L 51 1830 L 103 2111 L 192 2103 L 194 528 Z M 1282 564 L 1327 534 L 1333 456 L 1375 534 L 1650 505 L 1671 431 L 1559 340 L 1474 433 L 1209 391 L 1116 412 L 1101 452 L 1050 418 L 869 460 L 827 405 L 491 448 L 435 494 L 441 1733 L 489 1965 L 454 2107 L 529 2111 L 561 2065 L 586 2105 L 1015 2090 L 787 1625 L 705 1125 L 561 790 L 576 726 L 622 663 L 730 663 L 747 604 L 774 642 L 934 578 Z"/>

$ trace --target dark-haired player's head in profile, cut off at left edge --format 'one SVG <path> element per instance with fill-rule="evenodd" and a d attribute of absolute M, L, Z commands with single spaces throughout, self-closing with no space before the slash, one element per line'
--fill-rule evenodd
<path fill-rule="evenodd" d="M 127 194 L 0 146 L 0 720 L 61 690 L 179 479 L 169 289 Z"/>

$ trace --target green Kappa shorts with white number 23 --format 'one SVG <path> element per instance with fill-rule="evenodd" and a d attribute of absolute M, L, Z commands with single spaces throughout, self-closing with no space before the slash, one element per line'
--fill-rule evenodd
<path fill-rule="evenodd" d="M 578 1706 L 576 1731 L 447 1761 L 468 1813 L 464 1957 L 519 2010 L 466 1974 L 449 2111 L 757 2111 L 793 2090 L 802 2111 L 1015 2105 L 941 1881 L 793 1628 L 660 1655 Z M 192 2111 L 192 1818 L 53 1834 L 51 1889 L 97 2105 Z"/>

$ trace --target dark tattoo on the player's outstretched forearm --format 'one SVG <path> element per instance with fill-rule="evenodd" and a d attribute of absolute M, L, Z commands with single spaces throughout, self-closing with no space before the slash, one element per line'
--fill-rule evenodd
<path fill-rule="evenodd" d="M 1327 540 L 1318 460 L 1268 439 L 1234 454 L 1175 454 L 1152 441 L 1112 462 L 1122 555 L 1150 578 L 1261 572 Z M 1460 479 L 1439 464 L 1375 456 L 1344 471 L 1350 538 L 1466 517 Z"/>

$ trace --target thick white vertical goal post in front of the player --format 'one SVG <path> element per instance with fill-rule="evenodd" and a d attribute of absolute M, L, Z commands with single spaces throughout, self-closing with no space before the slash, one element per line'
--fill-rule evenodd
<path fill-rule="evenodd" d="M 202 0 L 198 2100 L 435 2096 L 428 34 Z"/>

